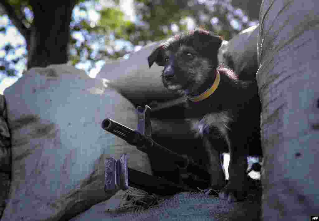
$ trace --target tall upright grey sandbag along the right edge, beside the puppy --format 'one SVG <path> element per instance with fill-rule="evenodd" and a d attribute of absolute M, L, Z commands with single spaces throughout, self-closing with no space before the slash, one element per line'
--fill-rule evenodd
<path fill-rule="evenodd" d="M 319 212 L 319 1 L 264 0 L 257 83 L 262 102 L 263 220 Z"/>

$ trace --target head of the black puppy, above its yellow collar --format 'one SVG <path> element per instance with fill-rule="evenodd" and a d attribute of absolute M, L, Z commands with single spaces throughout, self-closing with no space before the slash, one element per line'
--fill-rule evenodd
<path fill-rule="evenodd" d="M 221 37 L 202 29 L 175 35 L 152 52 L 148 64 L 164 66 L 162 81 L 167 89 L 195 93 L 215 78 L 221 43 Z"/>

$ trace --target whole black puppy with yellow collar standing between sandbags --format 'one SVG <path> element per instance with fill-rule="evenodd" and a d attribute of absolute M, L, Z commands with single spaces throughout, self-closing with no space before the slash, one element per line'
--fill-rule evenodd
<path fill-rule="evenodd" d="M 168 39 L 148 57 L 164 66 L 162 81 L 169 90 L 186 94 L 188 116 L 202 136 L 208 153 L 213 189 L 228 201 L 244 198 L 247 189 L 247 156 L 261 155 L 260 100 L 256 82 L 241 81 L 219 66 L 222 39 L 197 29 Z M 230 152 L 226 184 L 220 154 Z"/>

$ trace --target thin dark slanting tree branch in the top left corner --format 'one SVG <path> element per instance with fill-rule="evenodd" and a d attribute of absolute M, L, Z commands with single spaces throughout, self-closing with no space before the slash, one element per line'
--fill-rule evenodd
<path fill-rule="evenodd" d="M 16 14 L 14 8 L 6 1 L 0 0 L 0 5 L 7 12 L 11 22 L 16 26 L 19 32 L 23 35 L 23 37 L 28 41 L 30 37 L 30 30 L 22 23 L 22 20 Z"/>

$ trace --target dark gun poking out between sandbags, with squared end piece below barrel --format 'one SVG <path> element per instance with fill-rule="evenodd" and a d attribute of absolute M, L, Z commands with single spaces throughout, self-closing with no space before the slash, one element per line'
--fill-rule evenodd
<path fill-rule="evenodd" d="M 142 152 L 148 155 L 163 157 L 166 162 L 172 162 L 179 169 L 189 172 L 191 179 L 196 183 L 207 184 L 209 181 L 200 176 L 209 177 L 205 169 L 195 163 L 186 155 L 179 155 L 174 151 L 163 147 L 155 142 L 152 136 L 152 127 L 150 120 L 150 107 L 137 107 L 137 130 L 128 128 L 112 119 L 106 118 L 102 121 L 102 128 L 131 145 L 134 145 Z M 129 179 L 130 177 L 130 179 Z M 105 159 L 105 186 L 106 192 L 119 189 L 126 190 L 129 186 L 145 190 L 159 195 L 171 195 L 181 191 L 195 191 L 192 187 L 180 182 L 174 183 L 163 177 L 151 176 L 135 169 L 127 167 L 127 154 L 123 154 L 119 160 L 114 158 Z"/>

